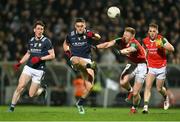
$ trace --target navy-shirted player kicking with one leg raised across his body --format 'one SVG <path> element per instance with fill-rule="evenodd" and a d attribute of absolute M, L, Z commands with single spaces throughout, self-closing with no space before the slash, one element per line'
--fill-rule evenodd
<path fill-rule="evenodd" d="M 86 22 L 83 18 L 75 20 L 74 30 L 68 33 L 64 44 L 64 52 L 69 57 L 72 67 L 79 70 L 84 78 L 84 91 L 76 106 L 80 114 L 84 114 L 83 103 L 90 93 L 94 84 L 94 62 L 91 57 L 91 47 L 93 40 L 99 40 L 101 36 L 86 29 Z"/>

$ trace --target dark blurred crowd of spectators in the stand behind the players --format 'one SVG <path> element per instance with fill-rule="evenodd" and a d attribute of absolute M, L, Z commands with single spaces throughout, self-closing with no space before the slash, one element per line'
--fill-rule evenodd
<path fill-rule="evenodd" d="M 106 13 L 110 6 L 119 7 L 121 16 L 108 18 Z M 88 28 L 100 33 L 101 42 L 122 36 L 126 26 L 134 27 L 136 38 L 142 41 L 149 23 L 156 22 L 159 32 L 175 47 L 175 52 L 168 54 L 169 63 L 180 64 L 179 0 L 1 0 L 0 61 L 17 61 L 25 54 L 36 20 L 46 24 L 45 35 L 52 40 L 56 61 L 65 61 L 62 44 L 73 29 L 76 17 L 85 18 Z M 95 50 L 94 60 L 100 63 L 126 61 L 111 49 Z"/>

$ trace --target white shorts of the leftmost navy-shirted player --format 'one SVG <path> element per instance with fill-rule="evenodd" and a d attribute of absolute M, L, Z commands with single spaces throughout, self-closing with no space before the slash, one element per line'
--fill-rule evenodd
<path fill-rule="evenodd" d="M 33 68 L 25 65 L 22 73 L 31 76 L 32 82 L 40 84 L 41 80 L 43 80 L 43 78 L 44 78 L 45 72 L 43 70 L 33 69 Z"/>

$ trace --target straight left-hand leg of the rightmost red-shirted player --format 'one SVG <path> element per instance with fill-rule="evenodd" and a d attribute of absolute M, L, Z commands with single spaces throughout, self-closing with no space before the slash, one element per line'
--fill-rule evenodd
<path fill-rule="evenodd" d="M 144 89 L 144 108 L 143 113 L 148 113 L 148 104 L 151 97 L 151 88 L 153 85 L 153 81 L 155 79 L 155 75 L 149 72 L 146 76 L 145 81 L 145 89 Z"/>

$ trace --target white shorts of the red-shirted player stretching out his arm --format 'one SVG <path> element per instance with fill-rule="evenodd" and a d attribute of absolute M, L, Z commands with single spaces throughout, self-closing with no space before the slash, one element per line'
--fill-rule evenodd
<path fill-rule="evenodd" d="M 139 81 L 144 83 L 147 73 L 147 65 L 146 63 L 138 63 L 137 65 L 134 64 L 127 64 L 125 69 L 122 72 L 122 75 L 129 74 L 131 77 L 135 77 L 135 81 Z M 122 76 L 121 75 L 121 76 Z"/>

